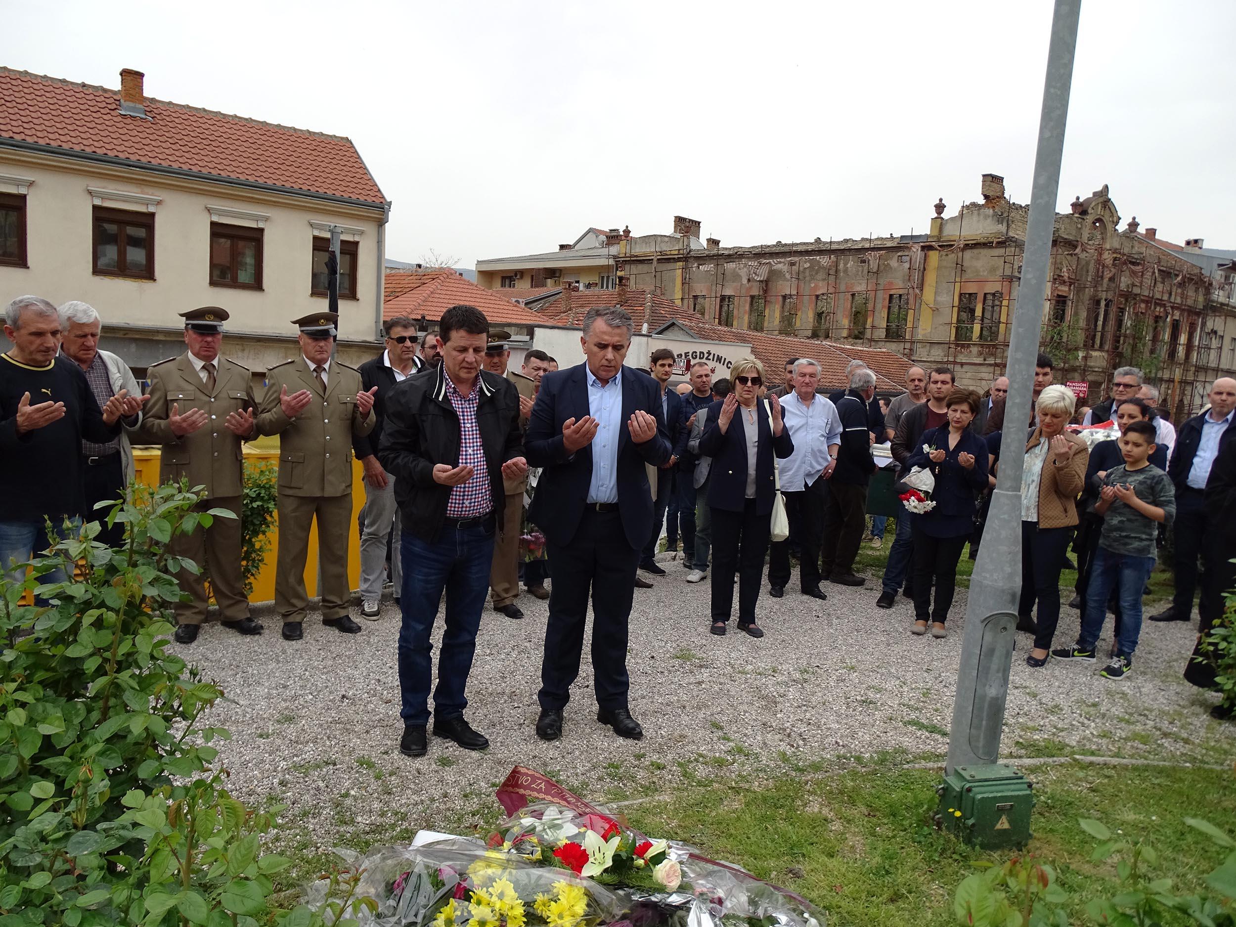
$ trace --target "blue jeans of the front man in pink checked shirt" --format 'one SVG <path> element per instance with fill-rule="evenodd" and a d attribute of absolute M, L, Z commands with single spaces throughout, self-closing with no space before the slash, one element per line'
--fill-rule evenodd
<path fill-rule="evenodd" d="M 403 723 L 429 722 L 429 682 L 433 676 L 429 638 L 438 606 L 446 592 L 446 633 L 438 656 L 434 711 L 442 721 L 459 717 L 467 707 L 464 690 L 476 653 L 481 609 L 489 592 L 494 524 L 451 528 L 444 525 L 430 543 L 412 531 L 400 538 L 403 593 L 399 607 L 399 695 Z"/>

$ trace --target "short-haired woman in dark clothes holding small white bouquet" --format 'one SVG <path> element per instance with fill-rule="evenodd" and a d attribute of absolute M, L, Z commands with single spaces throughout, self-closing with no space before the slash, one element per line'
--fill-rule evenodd
<path fill-rule="evenodd" d="M 931 512 L 911 515 L 913 531 L 913 634 L 948 634 L 944 623 L 957 587 L 957 562 L 965 541 L 974 531 L 978 496 L 988 486 L 988 445 L 970 430 L 979 410 L 979 394 L 973 389 L 953 389 L 944 400 L 948 424 L 925 431 L 922 445 L 906 461 L 907 471 L 926 467 L 936 477 Z M 931 603 L 932 583 L 936 604 Z"/>

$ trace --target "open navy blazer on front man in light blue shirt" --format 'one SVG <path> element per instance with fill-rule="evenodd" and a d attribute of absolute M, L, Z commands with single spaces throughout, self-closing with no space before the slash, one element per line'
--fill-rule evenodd
<path fill-rule="evenodd" d="M 562 441 L 562 423 L 567 419 L 578 421 L 590 414 L 586 373 L 587 363 L 546 373 L 524 434 L 528 466 L 544 468 L 528 508 L 528 520 L 540 528 L 548 540 L 562 546 L 571 543 L 580 528 L 592 482 L 592 446 L 569 455 Z M 643 444 L 630 440 L 627 426 L 637 409 L 656 419 L 656 434 Z M 670 442 L 665 435 L 656 381 L 633 367 L 623 367 L 616 477 L 623 533 L 635 550 L 641 550 L 653 533 L 653 492 L 644 465 L 658 467 L 669 462 Z"/>

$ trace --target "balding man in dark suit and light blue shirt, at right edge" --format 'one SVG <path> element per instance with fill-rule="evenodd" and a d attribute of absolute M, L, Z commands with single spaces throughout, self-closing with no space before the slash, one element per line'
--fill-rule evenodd
<path fill-rule="evenodd" d="M 1172 462 L 1167 468 L 1175 483 L 1175 522 L 1172 525 L 1175 592 L 1170 608 L 1152 614 L 1152 622 L 1187 622 L 1193 617 L 1198 557 L 1210 543 L 1206 538 L 1206 480 L 1215 459 L 1236 435 L 1236 430 L 1230 428 L 1232 410 L 1236 409 L 1236 379 L 1216 379 L 1209 398 L 1209 412 L 1185 420 L 1177 431 Z"/>

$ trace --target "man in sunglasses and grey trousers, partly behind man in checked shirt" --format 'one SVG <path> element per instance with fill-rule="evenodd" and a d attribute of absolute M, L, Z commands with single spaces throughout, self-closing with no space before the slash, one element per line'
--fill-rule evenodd
<path fill-rule="evenodd" d="M 377 387 L 373 415 L 377 423 L 367 435 L 352 439 L 356 459 L 365 467 L 365 508 L 361 509 L 361 617 L 378 619 L 382 581 L 386 576 L 387 543 L 391 544 L 391 586 L 399 601 L 403 571 L 399 569 L 399 518 L 394 504 L 394 477 L 382 468 L 377 449 L 382 439 L 386 400 L 396 383 L 402 383 L 425 366 L 417 356 L 417 323 L 398 315 L 382 323 L 386 350 L 357 370 L 365 389 Z"/>

